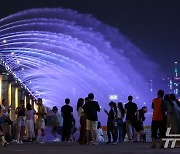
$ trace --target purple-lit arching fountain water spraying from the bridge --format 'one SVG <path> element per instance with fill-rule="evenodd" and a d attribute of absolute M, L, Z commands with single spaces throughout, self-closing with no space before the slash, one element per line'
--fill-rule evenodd
<path fill-rule="evenodd" d="M 117 29 L 67 9 L 31 9 L 0 20 L 0 57 L 47 106 L 73 107 L 95 94 L 108 109 L 110 95 L 149 107 L 147 81 L 157 66 Z M 152 73 L 153 72 L 153 73 Z M 100 120 L 105 114 L 101 112 Z"/>

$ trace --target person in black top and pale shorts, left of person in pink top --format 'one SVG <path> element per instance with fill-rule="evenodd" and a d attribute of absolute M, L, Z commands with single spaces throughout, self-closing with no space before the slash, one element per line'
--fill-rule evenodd
<path fill-rule="evenodd" d="M 19 107 L 16 108 L 17 114 L 17 144 L 23 144 L 22 140 L 25 133 L 26 117 L 25 117 L 24 100 L 20 101 Z"/>

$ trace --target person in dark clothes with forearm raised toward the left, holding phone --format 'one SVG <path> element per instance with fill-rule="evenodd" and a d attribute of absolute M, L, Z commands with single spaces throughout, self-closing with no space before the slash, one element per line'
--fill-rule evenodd
<path fill-rule="evenodd" d="M 116 123 L 116 111 L 114 108 L 114 102 L 109 103 L 110 111 L 104 110 L 104 112 L 108 116 L 107 121 L 107 135 L 108 135 L 108 142 L 106 144 L 116 144 L 116 137 L 115 137 L 115 123 Z M 113 142 L 111 143 L 111 136 L 113 138 Z"/>

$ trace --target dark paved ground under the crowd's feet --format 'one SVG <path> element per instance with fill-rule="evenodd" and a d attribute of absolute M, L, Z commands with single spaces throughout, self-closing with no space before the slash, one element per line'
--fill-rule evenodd
<path fill-rule="evenodd" d="M 114 154 L 114 153 L 180 153 L 180 148 L 175 149 L 150 149 L 150 143 L 120 143 L 117 145 L 105 145 L 101 143 L 98 146 L 79 145 L 76 142 L 72 143 L 52 143 L 45 144 L 24 143 L 17 145 L 11 143 L 8 146 L 1 148 L 1 154 Z"/>

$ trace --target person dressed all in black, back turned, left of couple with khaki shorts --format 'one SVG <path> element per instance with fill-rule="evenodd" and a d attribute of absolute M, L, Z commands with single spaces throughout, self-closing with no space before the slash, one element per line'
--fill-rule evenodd
<path fill-rule="evenodd" d="M 72 120 L 73 120 L 73 108 L 69 105 L 70 99 L 65 99 L 64 106 L 61 107 L 61 114 L 63 116 L 63 129 L 62 129 L 62 141 L 63 142 L 69 142 L 70 141 L 70 135 L 71 135 L 71 129 L 72 129 Z"/>

